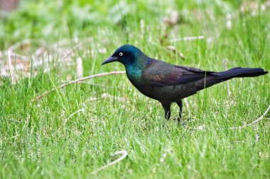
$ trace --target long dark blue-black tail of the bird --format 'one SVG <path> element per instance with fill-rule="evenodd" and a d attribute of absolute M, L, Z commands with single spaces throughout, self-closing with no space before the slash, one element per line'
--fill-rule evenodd
<path fill-rule="evenodd" d="M 215 72 L 212 74 L 214 74 L 215 80 L 226 81 L 228 79 L 237 78 L 237 77 L 243 78 L 243 77 L 261 76 L 267 73 L 268 71 L 264 71 L 264 69 L 261 69 L 261 68 L 236 67 L 233 69 L 229 69 L 227 71 Z"/>

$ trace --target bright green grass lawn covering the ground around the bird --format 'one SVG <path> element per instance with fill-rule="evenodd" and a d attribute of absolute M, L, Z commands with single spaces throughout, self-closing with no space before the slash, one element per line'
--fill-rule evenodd
<path fill-rule="evenodd" d="M 73 37 L 92 37 L 75 50 L 74 61 L 82 57 L 84 76 L 124 70 L 121 64 L 100 64 L 126 43 L 150 57 L 188 67 L 222 71 L 222 59 L 227 58 L 228 68 L 270 70 L 269 8 L 253 16 L 252 11 L 241 13 L 238 1 L 126 1 L 129 11 L 120 8 L 119 13 L 115 1 L 93 1 L 79 17 L 85 1 L 59 9 L 54 1 L 45 2 L 26 1 L 1 18 L 2 52 L 27 38 L 48 44 L 68 38 L 72 44 Z M 180 11 L 183 20 L 166 27 L 162 18 L 172 10 Z M 59 16 L 53 16 L 55 12 Z M 235 14 L 231 30 L 226 26 L 227 13 Z M 205 39 L 170 42 L 163 37 L 166 34 L 168 39 L 196 35 Z M 167 50 L 167 45 L 174 45 L 186 59 Z M 99 47 L 107 52 L 82 56 Z M 55 54 L 55 60 L 59 58 Z M 48 73 L 41 69 L 16 84 L 1 78 L 0 178 L 270 178 L 269 114 L 254 126 L 229 129 L 256 120 L 268 108 L 269 74 L 232 79 L 232 96 L 227 95 L 226 83 L 190 96 L 190 116 L 185 104 L 183 109 L 185 127 L 173 120 L 166 122 L 161 105 L 141 95 L 124 74 L 90 80 L 112 88 L 79 83 L 30 103 L 69 76 L 75 79 L 75 74 L 75 65 L 63 68 L 58 64 Z M 126 101 L 102 99 L 103 93 Z M 90 98 L 99 100 L 85 103 Z M 72 115 L 82 108 L 84 112 Z M 178 108 L 173 105 L 172 118 L 177 115 Z M 195 129 L 200 126 L 206 129 Z M 114 161 L 117 156 L 111 154 L 121 150 L 128 152 L 123 161 L 91 174 Z"/>

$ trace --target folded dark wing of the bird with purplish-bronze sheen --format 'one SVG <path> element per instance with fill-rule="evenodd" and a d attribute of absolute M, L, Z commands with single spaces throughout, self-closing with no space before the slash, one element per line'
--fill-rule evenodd
<path fill-rule="evenodd" d="M 205 78 L 212 71 L 181 67 L 152 59 L 144 69 L 143 77 L 151 86 L 172 86 Z"/>

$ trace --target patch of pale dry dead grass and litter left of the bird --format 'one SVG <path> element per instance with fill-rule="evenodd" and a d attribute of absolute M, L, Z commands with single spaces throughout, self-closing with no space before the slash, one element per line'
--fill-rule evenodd
<path fill-rule="evenodd" d="M 12 83 L 17 83 L 18 80 L 31 76 L 31 70 L 33 70 L 33 76 L 36 76 L 41 69 L 47 73 L 55 67 L 65 69 L 65 67 L 74 66 L 73 59 L 77 56 L 76 51 L 82 50 L 82 47 L 85 47 L 83 44 L 89 44 L 89 42 L 92 42 L 92 37 L 64 39 L 51 45 L 43 40 L 16 42 L 7 50 L 0 52 L 0 77 L 10 78 Z M 95 44 L 91 50 L 85 50 L 82 57 L 91 55 L 95 58 L 97 54 L 106 52 L 106 48 L 101 44 Z M 77 60 L 76 72 L 78 77 L 83 74 L 80 59 Z"/>

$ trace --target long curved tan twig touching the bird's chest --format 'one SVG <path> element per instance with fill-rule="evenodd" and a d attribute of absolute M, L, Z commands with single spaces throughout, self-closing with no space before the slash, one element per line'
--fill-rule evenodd
<path fill-rule="evenodd" d="M 56 90 L 58 90 L 60 88 L 65 88 L 66 86 L 69 86 L 69 85 L 71 85 L 73 83 L 77 83 L 77 82 L 80 82 L 80 81 L 85 81 L 87 79 L 94 79 L 94 78 L 100 77 L 100 76 L 107 76 L 107 75 L 111 75 L 111 74 L 125 74 L 125 73 L 126 73 L 126 71 L 112 71 L 112 72 L 108 72 L 108 73 L 94 74 L 94 75 L 91 75 L 91 76 L 86 76 L 86 77 L 83 77 L 83 78 L 80 78 L 80 79 L 76 79 L 74 81 L 70 81 L 68 83 L 62 84 L 61 86 L 53 88 L 50 91 L 45 91 L 43 94 L 37 96 L 36 98 L 33 98 L 31 100 L 31 103 L 35 102 L 36 100 L 40 100 L 41 98 L 43 98 L 44 96 L 47 96 L 49 93 L 52 93 L 53 91 L 56 91 Z"/>

